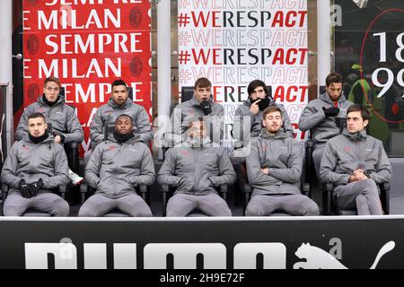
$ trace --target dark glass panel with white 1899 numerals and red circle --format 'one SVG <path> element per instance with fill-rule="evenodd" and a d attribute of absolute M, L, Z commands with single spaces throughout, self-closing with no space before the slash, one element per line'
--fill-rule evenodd
<path fill-rule="evenodd" d="M 348 99 L 371 110 L 368 133 L 382 140 L 389 156 L 403 157 L 404 2 L 356 2 L 335 1 L 342 12 L 335 70 L 344 75 Z"/>

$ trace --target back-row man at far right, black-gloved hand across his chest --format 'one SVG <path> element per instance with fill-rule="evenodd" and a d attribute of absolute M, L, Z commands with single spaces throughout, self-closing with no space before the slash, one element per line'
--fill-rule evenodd
<path fill-rule="evenodd" d="M 314 142 L 312 161 L 316 174 L 320 175 L 320 163 L 324 147 L 330 138 L 339 135 L 340 126 L 347 117 L 352 102 L 342 93 L 342 76 L 330 73 L 326 78 L 326 92 L 319 99 L 309 102 L 299 119 L 299 129 L 311 130 Z"/>

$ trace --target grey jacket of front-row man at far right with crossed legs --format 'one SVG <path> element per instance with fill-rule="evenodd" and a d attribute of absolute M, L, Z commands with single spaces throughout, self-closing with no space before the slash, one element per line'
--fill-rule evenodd
<path fill-rule="evenodd" d="M 320 177 L 335 186 L 346 185 L 354 170 L 362 169 L 375 183 L 391 179 L 391 164 L 383 144 L 365 131 L 356 134 L 345 129 L 329 140 L 321 158 Z"/>

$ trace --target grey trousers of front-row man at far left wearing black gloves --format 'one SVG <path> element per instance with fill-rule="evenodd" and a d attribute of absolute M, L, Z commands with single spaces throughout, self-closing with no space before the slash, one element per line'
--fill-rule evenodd
<path fill-rule="evenodd" d="M 52 216 L 68 216 L 70 211 L 69 204 L 62 197 L 48 192 L 31 198 L 22 197 L 19 192 L 12 192 L 5 198 L 4 216 L 22 216 L 29 209 Z"/>

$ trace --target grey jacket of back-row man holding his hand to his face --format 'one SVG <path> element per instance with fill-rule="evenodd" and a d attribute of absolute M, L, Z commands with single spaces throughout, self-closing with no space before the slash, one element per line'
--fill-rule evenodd
<path fill-rule="evenodd" d="M 271 99 L 271 98 L 270 98 Z M 285 110 L 284 105 L 282 104 L 277 104 L 275 100 L 271 99 L 269 106 L 277 106 L 282 111 L 282 119 L 284 121 L 284 129 L 286 131 L 286 134 L 290 137 L 294 137 L 294 127 L 290 123 L 289 116 L 287 115 L 287 112 Z M 268 107 L 269 107 L 268 106 Z M 257 137 L 259 136 L 259 133 L 261 132 L 262 129 L 262 114 L 263 110 L 259 110 L 257 115 L 254 115 L 250 111 L 251 107 L 251 101 L 245 100 L 242 105 L 240 105 L 235 113 L 234 113 L 234 118 L 233 118 L 233 138 L 236 140 L 242 141 L 243 140 L 243 123 L 247 125 L 247 122 L 244 121 L 245 117 L 250 117 L 250 136 L 251 137 Z"/>

